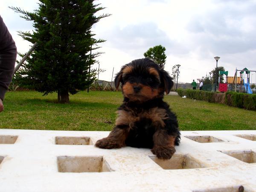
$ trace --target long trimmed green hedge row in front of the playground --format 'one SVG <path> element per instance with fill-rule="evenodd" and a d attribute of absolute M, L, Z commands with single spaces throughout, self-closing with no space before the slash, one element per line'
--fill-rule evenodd
<path fill-rule="evenodd" d="M 179 96 L 186 96 L 191 99 L 222 103 L 248 110 L 256 110 L 256 94 L 236 92 L 218 93 L 192 89 L 178 89 L 177 93 Z"/>

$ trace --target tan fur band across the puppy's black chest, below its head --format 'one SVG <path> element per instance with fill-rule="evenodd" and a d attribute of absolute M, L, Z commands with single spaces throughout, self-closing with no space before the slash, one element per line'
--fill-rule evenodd
<path fill-rule="evenodd" d="M 151 108 L 148 111 L 142 111 L 141 113 L 135 113 L 135 111 L 124 111 L 119 110 L 116 112 L 118 117 L 116 119 L 116 125 L 128 125 L 130 128 L 133 127 L 134 122 L 140 121 L 141 118 L 151 119 L 152 123 L 165 126 L 164 119 L 168 119 L 166 110 L 163 108 Z"/>

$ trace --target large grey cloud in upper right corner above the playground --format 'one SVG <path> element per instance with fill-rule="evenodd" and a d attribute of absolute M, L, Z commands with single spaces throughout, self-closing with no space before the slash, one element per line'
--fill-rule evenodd
<path fill-rule="evenodd" d="M 256 3 L 220 1 L 204 15 L 194 15 L 186 29 L 191 47 L 203 52 L 235 54 L 256 49 Z M 206 54 L 203 54 L 207 56 Z"/>

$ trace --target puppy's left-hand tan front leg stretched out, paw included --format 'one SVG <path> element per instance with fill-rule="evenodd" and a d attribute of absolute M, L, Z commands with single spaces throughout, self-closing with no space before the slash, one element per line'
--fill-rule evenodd
<path fill-rule="evenodd" d="M 108 135 L 101 140 L 98 140 L 95 144 L 99 148 L 121 148 L 125 146 L 125 139 L 128 135 L 127 128 L 119 128 L 116 126 Z"/>

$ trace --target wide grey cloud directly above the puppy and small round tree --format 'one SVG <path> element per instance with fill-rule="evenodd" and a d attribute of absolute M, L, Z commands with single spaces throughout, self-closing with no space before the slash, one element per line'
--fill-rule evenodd
<path fill-rule="evenodd" d="M 107 39 L 106 46 L 122 49 L 125 52 L 143 57 L 143 53 L 150 47 L 162 45 L 168 47 L 166 53 L 180 54 L 187 52 L 186 47 L 173 41 L 163 30 L 159 29 L 156 23 L 147 22 L 131 24 L 123 28 L 115 26 L 111 30 L 99 35 Z"/>

